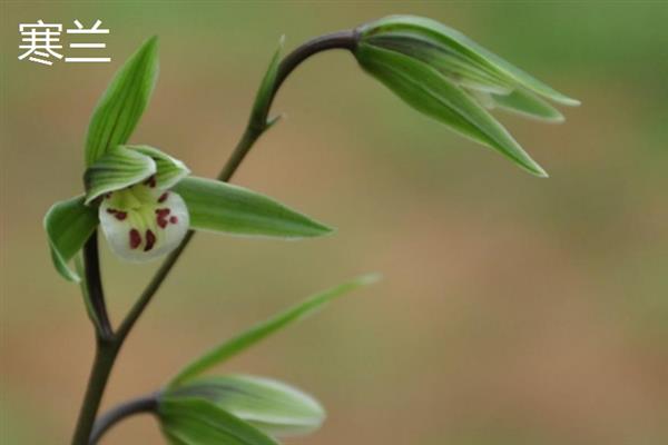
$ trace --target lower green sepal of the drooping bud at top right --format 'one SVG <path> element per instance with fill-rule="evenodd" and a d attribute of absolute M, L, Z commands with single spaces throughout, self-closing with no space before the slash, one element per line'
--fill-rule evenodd
<path fill-rule="evenodd" d="M 434 68 L 365 43 L 357 46 L 355 56 L 362 68 L 418 111 L 497 149 L 529 172 L 547 177 L 501 123 Z"/>

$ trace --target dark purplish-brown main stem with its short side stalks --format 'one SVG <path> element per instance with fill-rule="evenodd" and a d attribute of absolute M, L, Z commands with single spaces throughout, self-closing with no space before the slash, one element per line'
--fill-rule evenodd
<path fill-rule="evenodd" d="M 250 115 L 250 119 L 246 126 L 244 135 L 239 139 L 236 148 L 234 149 L 232 156 L 220 170 L 218 175 L 218 179 L 222 181 L 229 181 L 234 176 L 235 171 L 238 169 L 246 155 L 257 141 L 257 139 L 267 130 L 267 117 L 269 113 L 269 109 L 276 97 L 276 92 L 285 81 L 285 79 L 289 76 L 291 72 L 295 70 L 304 60 L 310 58 L 311 56 L 322 52 L 330 49 L 347 49 L 353 51 L 357 44 L 357 36 L 354 30 L 346 30 L 341 32 L 334 32 L 331 34 L 325 34 L 317 37 L 296 48 L 289 55 L 287 55 L 278 66 L 276 78 L 274 81 L 274 86 L 271 90 L 268 100 L 265 101 L 265 107 L 262 110 L 253 110 Z M 171 268 L 179 259 L 183 251 L 186 249 L 195 233 L 189 230 L 180 245 L 169 254 L 169 256 L 165 259 L 160 268 L 156 271 L 145 290 L 141 293 L 132 308 L 129 310 L 126 318 L 122 320 L 118 330 L 112 333 L 109 328 L 109 332 L 106 332 L 106 328 L 102 332 L 98 332 L 98 340 L 95 360 L 92 364 L 92 369 L 90 373 L 90 377 L 88 380 L 88 388 L 86 390 L 86 396 L 84 398 L 84 404 L 81 406 L 81 411 L 79 414 L 79 419 L 77 422 L 77 427 L 75 429 L 75 434 L 72 437 L 72 445 L 92 445 L 97 443 L 99 437 L 116 422 L 126 417 L 127 415 L 134 414 L 136 412 L 121 411 L 124 415 L 114 416 L 114 411 L 104 416 L 100 421 L 105 421 L 102 424 L 98 424 L 99 428 L 96 428 L 96 434 L 92 434 L 95 419 L 97 417 L 97 413 L 99 411 L 99 406 L 102 399 L 102 395 L 105 393 L 105 388 L 107 386 L 107 382 L 109 379 L 109 375 L 116 362 L 116 357 L 125 339 L 128 334 L 132 330 L 132 327 L 153 299 L 154 295 L 160 288 L 160 285 L 167 278 Z M 97 295 L 97 304 L 96 304 L 96 313 L 98 315 L 102 314 L 104 319 L 108 320 L 106 314 L 106 306 L 102 293 L 102 285 L 99 274 L 99 259 L 97 257 L 97 237 L 91 237 L 91 240 L 87 243 L 95 243 L 95 254 L 96 255 L 85 255 L 85 265 L 87 270 L 87 276 L 89 275 L 89 270 L 94 277 L 97 276 L 97 279 L 89 281 L 89 294 Z M 88 247 L 87 247 L 88 248 Z M 90 247 L 92 249 L 92 247 Z M 91 251 L 92 253 L 92 251 Z M 96 274 L 97 270 L 97 274 Z M 101 304 L 101 305 L 100 305 Z M 110 326 L 110 325 L 109 325 Z M 147 412 L 155 411 L 156 404 L 147 404 L 144 405 L 141 411 L 137 412 Z M 118 413 L 117 413 L 118 414 Z"/>

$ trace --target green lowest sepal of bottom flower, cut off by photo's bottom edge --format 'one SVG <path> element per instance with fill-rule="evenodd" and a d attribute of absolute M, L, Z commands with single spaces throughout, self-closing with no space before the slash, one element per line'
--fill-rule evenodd
<path fill-rule="evenodd" d="M 158 415 L 173 445 L 277 445 L 261 431 L 203 399 L 160 399 Z"/>

